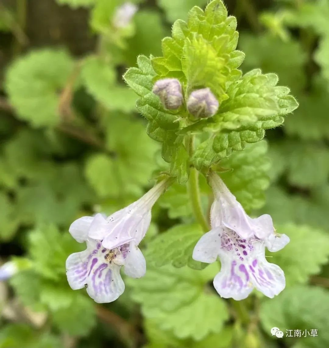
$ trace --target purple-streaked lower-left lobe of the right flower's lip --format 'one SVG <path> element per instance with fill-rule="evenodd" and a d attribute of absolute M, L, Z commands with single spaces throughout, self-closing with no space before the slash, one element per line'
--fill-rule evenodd
<path fill-rule="evenodd" d="M 222 268 L 214 278 L 214 287 L 218 294 L 225 299 L 233 298 L 236 301 L 248 297 L 254 285 L 243 263 L 230 258 L 221 258 Z"/>

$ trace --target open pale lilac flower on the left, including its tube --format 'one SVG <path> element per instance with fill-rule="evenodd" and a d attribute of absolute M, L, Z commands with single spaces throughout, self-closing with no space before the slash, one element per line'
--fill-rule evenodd
<path fill-rule="evenodd" d="M 125 290 L 121 266 L 130 277 L 144 276 L 146 262 L 138 244 L 150 226 L 151 208 L 167 185 L 168 180 L 160 182 L 107 219 L 96 214 L 71 224 L 72 237 L 79 243 L 87 243 L 85 251 L 71 254 L 66 260 L 67 280 L 73 290 L 86 287 L 96 302 L 112 302 Z"/>

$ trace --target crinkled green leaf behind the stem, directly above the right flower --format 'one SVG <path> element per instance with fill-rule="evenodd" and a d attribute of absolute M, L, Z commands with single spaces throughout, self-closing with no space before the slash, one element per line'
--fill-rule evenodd
<path fill-rule="evenodd" d="M 266 152 L 265 141 L 248 144 L 244 151 L 234 151 L 219 163 L 222 168 L 232 169 L 221 173 L 220 177 L 247 211 L 259 209 L 265 203 L 264 191 L 270 184 L 268 171 L 271 167 Z"/>

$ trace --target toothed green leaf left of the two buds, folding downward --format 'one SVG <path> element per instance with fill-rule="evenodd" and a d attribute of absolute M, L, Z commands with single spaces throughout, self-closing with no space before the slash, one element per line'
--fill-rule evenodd
<path fill-rule="evenodd" d="M 172 162 L 172 175 L 178 176 L 179 181 L 184 182 L 187 179 L 187 152 L 183 147 L 183 137 L 176 135 L 179 122 L 174 113 L 163 109 L 159 97 L 152 92 L 155 72 L 150 59 L 139 56 L 137 64 L 138 68 L 130 68 L 123 78 L 140 96 L 136 105 L 138 111 L 149 120 L 147 134 L 163 143 L 162 157 L 167 162 Z"/>

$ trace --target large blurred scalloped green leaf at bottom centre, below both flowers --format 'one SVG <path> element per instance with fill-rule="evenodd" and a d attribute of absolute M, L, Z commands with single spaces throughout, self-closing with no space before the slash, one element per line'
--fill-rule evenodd
<path fill-rule="evenodd" d="M 225 302 L 206 287 L 216 272 L 216 263 L 202 271 L 148 266 L 145 277 L 129 279 L 129 284 L 133 286 L 133 299 L 142 304 L 144 316 L 161 330 L 173 332 L 178 338 L 201 340 L 220 332 L 228 318 Z"/>

